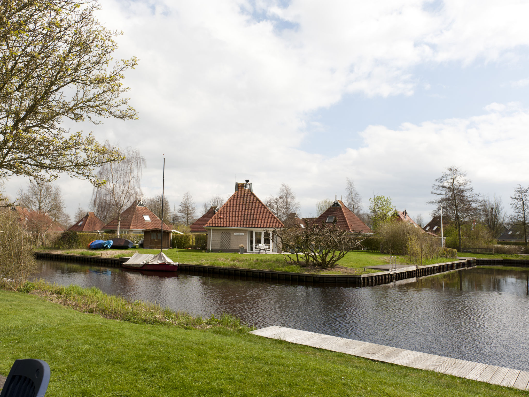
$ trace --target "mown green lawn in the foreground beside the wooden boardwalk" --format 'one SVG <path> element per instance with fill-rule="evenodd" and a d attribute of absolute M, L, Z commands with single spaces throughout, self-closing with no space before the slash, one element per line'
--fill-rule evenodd
<path fill-rule="evenodd" d="M 0 291 L 0 374 L 51 368 L 56 396 L 521 396 L 527 392 L 265 339 L 223 327 L 105 319 Z"/>

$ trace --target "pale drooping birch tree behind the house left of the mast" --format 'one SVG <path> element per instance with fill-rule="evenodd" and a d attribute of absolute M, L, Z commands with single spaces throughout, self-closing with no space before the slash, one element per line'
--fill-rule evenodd
<path fill-rule="evenodd" d="M 110 147 L 110 143 L 105 145 Z M 138 149 L 130 146 L 121 150 L 124 156 L 120 163 L 109 163 L 99 168 L 97 178 L 106 183 L 94 187 L 92 202 L 110 202 L 117 217 L 117 236 L 120 235 L 121 213 L 139 197 L 141 197 L 141 175 L 145 166 L 145 158 Z"/>

